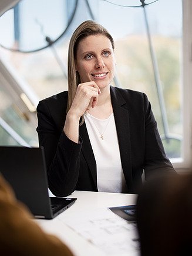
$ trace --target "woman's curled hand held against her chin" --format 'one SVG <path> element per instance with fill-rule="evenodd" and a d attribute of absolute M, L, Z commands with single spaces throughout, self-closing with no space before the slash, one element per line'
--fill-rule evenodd
<path fill-rule="evenodd" d="M 95 82 L 90 81 L 79 84 L 69 111 L 75 113 L 80 118 L 85 113 L 87 107 L 94 108 L 96 106 L 99 94 L 101 94 L 101 91 Z"/>

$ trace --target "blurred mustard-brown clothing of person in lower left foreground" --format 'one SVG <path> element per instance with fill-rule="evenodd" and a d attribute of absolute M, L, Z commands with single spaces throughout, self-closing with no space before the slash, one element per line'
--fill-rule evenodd
<path fill-rule="evenodd" d="M 0 175 L 1 255 L 72 256 L 73 253 L 54 235 L 46 234 Z"/>

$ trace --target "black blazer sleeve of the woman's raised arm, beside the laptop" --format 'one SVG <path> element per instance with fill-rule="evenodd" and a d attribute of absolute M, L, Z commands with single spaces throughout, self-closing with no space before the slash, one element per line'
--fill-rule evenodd
<path fill-rule="evenodd" d="M 49 105 L 46 101 L 39 102 L 36 131 L 39 146 L 45 150 L 50 191 L 58 197 L 66 197 L 75 190 L 78 182 L 82 139 L 75 143 L 65 135 L 63 125 L 62 131 L 58 128 L 56 118 L 64 117 L 58 117 Z"/>

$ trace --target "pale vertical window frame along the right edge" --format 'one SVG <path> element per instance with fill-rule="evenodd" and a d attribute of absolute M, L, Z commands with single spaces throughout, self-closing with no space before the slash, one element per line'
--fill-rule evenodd
<path fill-rule="evenodd" d="M 192 117 L 192 2 L 183 0 L 183 65 L 181 67 L 181 102 L 182 102 L 182 117 L 183 117 L 183 142 L 181 158 L 171 159 L 174 168 L 177 172 L 189 172 L 192 159 L 191 145 L 191 117 Z"/>

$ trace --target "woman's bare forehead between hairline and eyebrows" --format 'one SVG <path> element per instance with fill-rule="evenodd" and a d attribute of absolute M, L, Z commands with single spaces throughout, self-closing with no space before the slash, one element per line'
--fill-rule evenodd
<path fill-rule="evenodd" d="M 107 36 L 89 35 L 79 42 L 78 52 L 89 52 L 106 48 L 113 49 L 112 43 Z"/>

